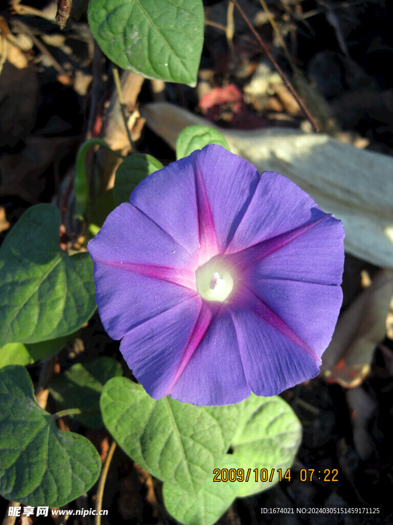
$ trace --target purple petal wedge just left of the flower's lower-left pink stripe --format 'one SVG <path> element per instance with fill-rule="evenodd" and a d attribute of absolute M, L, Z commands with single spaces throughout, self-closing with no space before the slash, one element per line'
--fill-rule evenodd
<path fill-rule="evenodd" d="M 194 341 L 201 306 L 200 297 L 189 298 L 139 324 L 123 338 L 124 359 L 151 397 L 168 394 L 182 367 L 184 350 L 198 345 L 203 337 L 204 331 Z"/>

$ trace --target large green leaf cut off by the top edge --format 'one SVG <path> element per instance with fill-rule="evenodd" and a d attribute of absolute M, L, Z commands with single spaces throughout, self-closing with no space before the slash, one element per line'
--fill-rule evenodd
<path fill-rule="evenodd" d="M 90 0 L 89 25 L 105 55 L 147 78 L 196 85 L 201 0 Z"/>

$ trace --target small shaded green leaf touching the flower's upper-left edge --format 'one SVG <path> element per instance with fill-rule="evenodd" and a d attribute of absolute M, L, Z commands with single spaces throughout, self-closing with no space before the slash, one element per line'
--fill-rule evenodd
<path fill-rule="evenodd" d="M 129 196 L 140 181 L 161 168 L 160 161 L 145 153 L 135 153 L 127 157 L 116 170 L 113 188 L 116 204 L 128 202 Z"/>

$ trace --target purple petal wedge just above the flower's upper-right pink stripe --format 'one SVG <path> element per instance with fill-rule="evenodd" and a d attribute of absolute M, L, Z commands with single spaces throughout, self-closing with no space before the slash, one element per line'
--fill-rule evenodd
<path fill-rule="evenodd" d="M 226 252 L 253 246 L 324 215 L 313 199 L 287 177 L 264 172 Z"/>

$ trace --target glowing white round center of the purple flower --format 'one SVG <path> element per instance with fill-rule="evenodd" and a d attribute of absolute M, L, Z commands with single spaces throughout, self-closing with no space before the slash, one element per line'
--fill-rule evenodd
<path fill-rule="evenodd" d="M 223 302 L 233 289 L 230 268 L 220 257 L 213 257 L 200 266 L 196 272 L 196 288 L 202 299 Z"/>

